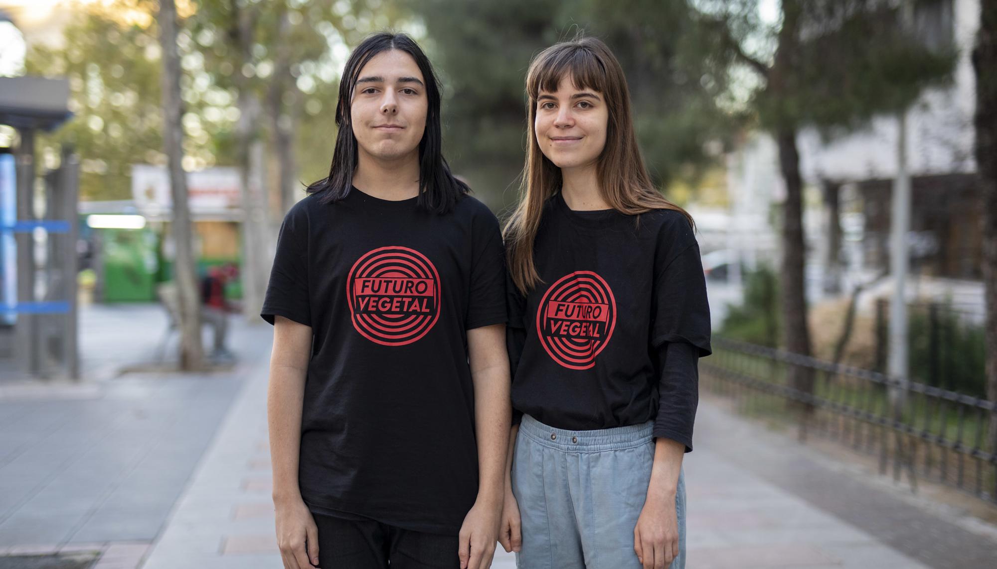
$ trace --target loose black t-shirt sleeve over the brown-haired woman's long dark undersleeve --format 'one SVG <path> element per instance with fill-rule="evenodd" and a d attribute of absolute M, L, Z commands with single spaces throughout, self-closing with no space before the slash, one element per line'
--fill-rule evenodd
<path fill-rule="evenodd" d="M 655 278 L 651 346 L 665 342 L 687 342 L 699 348 L 699 356 L 712 353 L 710 305 L 699 245 L 692 228 L 683 219 L 663 231 L 655 255 Z"/>

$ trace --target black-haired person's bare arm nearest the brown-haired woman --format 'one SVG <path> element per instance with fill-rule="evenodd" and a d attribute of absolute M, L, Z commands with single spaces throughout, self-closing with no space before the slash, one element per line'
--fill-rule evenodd
<path fill-rule="evenodd" d="M 498 538 L 508 446 L 509 378 L 505 326 L 468 330 L 471 377 L 475 383 L 475 433 L 478 438 L 478 499 L 461 527 L 462 569 L 492 564 Z"/>

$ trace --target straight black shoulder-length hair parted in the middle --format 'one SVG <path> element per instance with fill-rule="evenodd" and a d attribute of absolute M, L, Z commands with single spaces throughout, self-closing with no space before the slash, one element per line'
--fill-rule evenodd
<path fill-rule="evenodd" d="M 313 182 L 305 190 L 322 203 L 337 202 L 345 198 L 353 187 L 353 171 L 357 167 L 357 138 L 350 122 L 350 106 L 360 71 L 374 56 L 389 50 L 403 51 L 415 60 L 426 80 L 429 109 L 426 114 L 426 131 L 419 142 L 419 200 L 420 207 L 438 213 L 449 212 L 461 196 L 470 189 L 454 177 L 443 157 L 443 132 L 440 126 L 440 83 L 430 60 L 412 38 L 406 34 L 380 32 L 368 36 L 357 46 L 346 61 L 339 81 L 339 102 L 336 104 L 336 148 L 332 153 L 329 175 Z"/>

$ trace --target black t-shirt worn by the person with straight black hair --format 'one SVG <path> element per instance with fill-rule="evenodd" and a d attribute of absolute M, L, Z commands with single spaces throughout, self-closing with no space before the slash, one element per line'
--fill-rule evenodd
<path fill-rule="evenodd" d="M 498 221 L 354 188 L 284 218 L 261 315 L 312 328 L 301 495 L 318 513 L 456 534 L 478 495 L 467 330 L 505 322 Z"/>

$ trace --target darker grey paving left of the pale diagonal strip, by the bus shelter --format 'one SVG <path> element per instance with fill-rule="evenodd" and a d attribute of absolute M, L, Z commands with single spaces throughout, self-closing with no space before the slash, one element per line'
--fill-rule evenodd
<path fill-rule="evenodd" d="M 83 381 L 0 381 L 0 567 L 70 552 L 137 567 L 272 335 L 232 326 L 228 371 L 117 377 L 155 361 L 162 307 L 93 306 L 81 320 Z"/>

